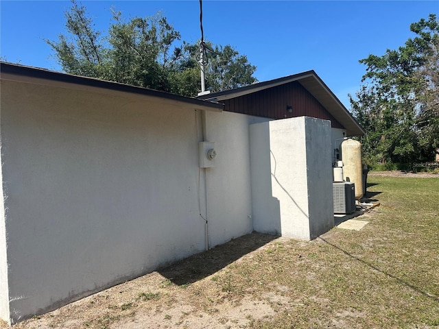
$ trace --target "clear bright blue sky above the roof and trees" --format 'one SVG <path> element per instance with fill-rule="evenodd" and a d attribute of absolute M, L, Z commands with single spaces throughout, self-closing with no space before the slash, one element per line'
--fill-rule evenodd
<path fill-rule="evenodd" d="M 82 1 L 106 32 L 110 8 L 126 18 L 161 11 L 182 40 L 200 38 L 200 4 L 193 1 Z M 2 60 L 60 71 L 43 39 L 65 32 L 69 1 L 0 0 Z M 382 55 L 413 37 L 410 23 L 439 14 L 439 1 L 203 1 L 204 38 L 232 45 L 257 66 L 262 82 L 315 70 L 349 108 L 366 67 L 358 60 Z"/>

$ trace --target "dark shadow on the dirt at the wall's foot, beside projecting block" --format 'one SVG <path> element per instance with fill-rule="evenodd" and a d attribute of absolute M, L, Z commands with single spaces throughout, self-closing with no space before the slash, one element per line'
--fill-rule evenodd
<path fill-rule="evenodd" d="M 277 239 L 278 236 L 253 232 L 209 251 L 193 255 L 158 271 L 174 284 L 191 284 L 223 269 L 242 256 Z"/>

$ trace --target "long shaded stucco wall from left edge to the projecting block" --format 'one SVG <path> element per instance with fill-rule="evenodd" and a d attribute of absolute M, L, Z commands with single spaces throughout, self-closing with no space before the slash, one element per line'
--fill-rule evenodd
<path fill-rule="evenodd" d="M 200 111 L 16 82 L 1 92 L 12 321 L 204 250 Z M 252 230 L 251 189 L 246 116 L 209 114 L 213 246 Z"/>

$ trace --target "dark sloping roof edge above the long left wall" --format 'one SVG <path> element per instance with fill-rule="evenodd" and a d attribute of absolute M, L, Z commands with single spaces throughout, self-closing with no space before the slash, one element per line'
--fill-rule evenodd
<path fill-rule="evenodd" d="M 181 106 L 185 108 L 193 108 L 195 110 L 222 112 L 224 109 L 222 103 L 213 101 L 205 101 L 202 99 L 165 93 L 159 90 L 130 86 L 128 84 L 107 82 L 104 80 L 93 79 L 91 77 L 80 77 L 78 75 L 58 73 L 15 64 L 6 64 L 3 62 L 1 62 L 0 78 L 1 80 L 83 90 L 105 95 L 121 95 L 123 97 L 129 95 L 129 97 L 134 97 L 135 99 L 143 101 L 154 98 L 160 99 L 163 103 L 167 103 L 171 106 Z"/>

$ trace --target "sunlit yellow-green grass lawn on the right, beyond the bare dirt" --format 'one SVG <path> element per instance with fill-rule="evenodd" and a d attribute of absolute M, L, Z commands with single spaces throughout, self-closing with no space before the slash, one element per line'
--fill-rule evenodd
<path fill-rule="evenodd" d="M 335 228 L 306 245 L 289 241 L 273 249 L 294 265 L 274 263 L 266 284 L 281 282 L 304 306 L 280 307 L 251 328 L 439 326 L 439 179 L 370 176 L 368 182 L 381 206 L 363 230 Z"/>

